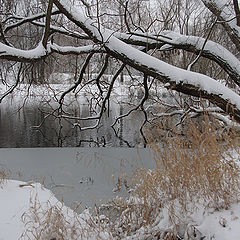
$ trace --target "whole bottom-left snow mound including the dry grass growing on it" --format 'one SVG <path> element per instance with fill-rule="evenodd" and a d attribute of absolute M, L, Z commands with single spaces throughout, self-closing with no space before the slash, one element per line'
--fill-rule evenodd
<path fill-rule="evenodd" d="M 8 180 L 0 188 L 0 213 L 0 240 L 110 238 L 88 210 L 74 213 L 39 183 Z"/>

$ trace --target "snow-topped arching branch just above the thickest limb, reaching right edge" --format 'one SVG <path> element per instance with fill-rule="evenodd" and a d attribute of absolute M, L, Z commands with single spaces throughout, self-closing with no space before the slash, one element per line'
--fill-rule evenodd
<path fill-rule="evenodd" d="M 149 48 L 161 49 L 163 46 L 161 43 L 166 43 L 174 48 L 184 49 L 188 52 L 194 52 L 196 54 L 201 52 L 201 56 L 218 63 L 234 80 L 234 82 L 240 86 L 240 61 L 225 47 L 211 40 L 208 40 L 204 45 L 204 38 L 182 35 L 180 33 L 168 30 L 162 31 L 161 35 L 153 35 L 150 39 L 149 35 L 146 34 L 136 36 L 134 33 L 115 33 L 114 36 L 133 45 L 146 46 L 146 44 L 148 44 Z"/>

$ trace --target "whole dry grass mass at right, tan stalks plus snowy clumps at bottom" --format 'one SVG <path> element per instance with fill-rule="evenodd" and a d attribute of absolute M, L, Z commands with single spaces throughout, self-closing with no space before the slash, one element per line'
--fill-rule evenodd
<path fill-rule="evenodd" d="M 239 140 L 208 117 L 201 124 L 189 122 L 184 136 L 165 135 L 159 142 L 159 129 L 153 132 L 156 169 L 138 169 L 131 196 L 112 201 L 112 208 L 119 212 L 113 235 L 119 239 L 143 235 L 145 239 L 182 239 L 180 233 L 183 238 L 184 234 L 193 237 L 197 230 L 188 225 L 188 216 L 199 207 L 215 211 L 239 201 L 240 169 L 235 158 Z M 170 225 L 159 230 L 166 216 Z"/>

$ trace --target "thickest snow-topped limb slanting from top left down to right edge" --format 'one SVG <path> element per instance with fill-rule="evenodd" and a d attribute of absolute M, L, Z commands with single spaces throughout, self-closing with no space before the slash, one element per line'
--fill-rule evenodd
<path fill-rule="evenodd" d="M 68 0 L 54 0 L 55 5 L 96 43 L 102 43 L 107 52 L 135 69 L 155 77 L 165 87 L 191 96 L 208 99 L 240 121 L 240 96 L 203 74 L 186 71 L 167 64 L 116 38 L 112 31 L 96 26 L 85 13 L 72 7 Z"/>

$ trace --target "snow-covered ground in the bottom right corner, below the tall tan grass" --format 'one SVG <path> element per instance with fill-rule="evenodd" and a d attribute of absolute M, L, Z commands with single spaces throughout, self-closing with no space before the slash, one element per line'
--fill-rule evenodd
<path fill-rule="evenodd" d="M 125 239 L 155 239 L 156 236 L 160 236 L 160 239 L 175 239 L 170 238 L 175 230 L 169 221 L 168 212 L 167 207 L 163 208 L 159 214 L 160 220 L 157 219 L 159 220 L 157 225 L 154 223 L 152 226 L 142 227 L 134 235 Z M 186 225 L 180 226 L 177 235 L 179 239 L 184 240 L 238 240 L 240 236 L 239 213 L 240 204 L 235 204 L 228 210 L 212 212 L 200 208 L 194 214 L 188 215 L 187 219 L 179 219 Z"/>

